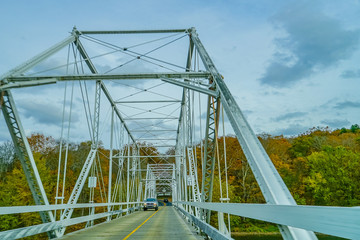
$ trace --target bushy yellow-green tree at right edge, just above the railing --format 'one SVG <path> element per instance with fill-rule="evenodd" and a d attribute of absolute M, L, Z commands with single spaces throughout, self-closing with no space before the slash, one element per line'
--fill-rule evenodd
<path fill-rule="evenodd" d="M 324 147 L 308 157 L 307 190 L 316 205 L 360 204 L 360 155 L 342 146 Z"/>

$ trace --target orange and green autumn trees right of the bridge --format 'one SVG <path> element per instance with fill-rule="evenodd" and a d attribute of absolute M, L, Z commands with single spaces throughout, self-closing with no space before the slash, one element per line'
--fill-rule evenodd
<path fill-rule="evenodd" d="M 335 131 L 313 128 L 296 137 L 261 134 L 258 138 L 298 204 L 360 205 L 359 125 Z M 225 140 L 231 202 L 265 203 L 236 137 Z M 222 156 L 222 144 L 219 149 Z M 220 160 L 224 166 L 223 158 Z M 222 185 L 225 189 L 224 179 Z M 218 190 L 215 182 L 213 201 L 220 199 Z M 212 221 L 217 224 L 216 216 Z M 277 231 L 272 224 L 240 217 L 232 217 L 231 222 L 234 231 Z"/>

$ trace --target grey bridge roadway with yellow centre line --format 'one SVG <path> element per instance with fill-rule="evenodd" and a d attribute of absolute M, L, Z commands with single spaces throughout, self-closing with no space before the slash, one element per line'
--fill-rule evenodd
<path fill-rule="evenodd" d="M 145 222 L 145 223 L 144 223 Z M 141 227 L 139 227 L 143 224 Z M 139 228 L 138 228 L 139 227 Z M 134 231 L 135 230 L 135 231 Z M 128 238 L 126 238 L 128 237 Z M 61 239 L 202 239 L 186 224 L 173 207 L 159 211 L 139 211 L 109 223 L 84 229 Z"/>

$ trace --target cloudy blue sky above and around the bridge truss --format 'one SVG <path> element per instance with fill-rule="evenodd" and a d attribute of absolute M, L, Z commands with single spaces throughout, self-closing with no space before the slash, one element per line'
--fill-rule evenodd
<path fill-rule="evenodd" d="M 316 126 L 360 123 L 359 0 L 4 0 L 1 9 L 0 75 L 69 36 L 74 25 L 196 27 L 257 134 L 291 136 Z M 26 90 L 17 94 L 28 133 L 54 134 L 61 113 L 47 102 L 56 92 L 37 90 L 30 99 Z M 56 104 L 60 109 L 60 98 Z M 37 118 L 40 109 L 57 116 Z M 0 129 L 6 131 L 3 121 Z"/>

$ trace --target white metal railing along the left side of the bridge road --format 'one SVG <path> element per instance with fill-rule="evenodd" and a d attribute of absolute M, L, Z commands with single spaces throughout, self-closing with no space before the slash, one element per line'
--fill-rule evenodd
<path fill-rule="evenodd" d="M 134 207 L 129 207 L 125 209 L 119 209 L 114 211 L 104 211 L 102 213 L 91 214 L 82 217 L 75 217 L 71 219 L 64 219 L 49 223 L 43 223 L 23 228 L 16 228 L 12 230 L 7 230 L 0 232 L 0 239 L 18 239 L 23 237 L 28 237 L 40 233 L 45 233 L 49 231 L 57 231 L 58 229 L 93 221 L 95 219 L 107 218 L 113 215 L 122 215 L 123 213 L 132 213 L 141 208 L 141 202 L 129 202 L 129 203 L 93 203 L 93 204 L 59 204 L 59 205 L 33 205 L 33 206 L 14 206 L 14 207 L 0 207 L 0 215 L 7 214 L 21 214 L 21 213 L 30 213 L 30 212 L 44 212 L 44 211 L 55 211 L 55 210 L 65 210 L 65 209 L 81 209 L 81 208 L 97 208 L 97 207 L 107 207 L 110 206 L 127 206 L 133 205 Z"/>

